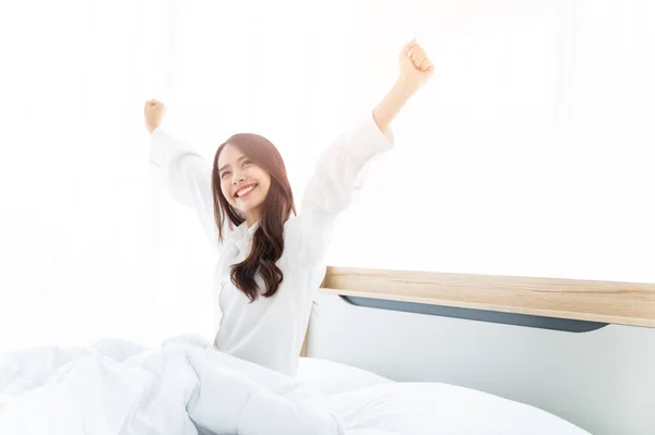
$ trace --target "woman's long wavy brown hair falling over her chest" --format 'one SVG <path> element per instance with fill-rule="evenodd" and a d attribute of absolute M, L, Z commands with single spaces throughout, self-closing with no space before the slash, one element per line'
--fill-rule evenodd
<path fill-rule="evenodd" d="M 231 265 L 230 271 L 233 283 L 250 299 L 250 302 L 253 302 L 258 299 L 260 290 L 254 280 L 258 271 L 266 286 L 266 291 L 263 293 L 265 298 L 275 294 L 284 279 L 282 270 L 275 263 L 284 252 L 284 223 L 290 217 L 291 212 L 294 215 L 296 214 L 296 205 L 284 160 L 275 145 L 259 134 L 235 134 L 216 150 L 212 170 L 214 218 L 218 226 L 219 242 L 224 240 L 223 232 L 226 220 L 230 228 L 241 225 L 245 220 L 221 191 L 218 156 L 227 144 L 235 146 L 271 176 L 271 188 L 261 206 L 260 226 L 252 237 L 250 255 L 241 263 Z"/>

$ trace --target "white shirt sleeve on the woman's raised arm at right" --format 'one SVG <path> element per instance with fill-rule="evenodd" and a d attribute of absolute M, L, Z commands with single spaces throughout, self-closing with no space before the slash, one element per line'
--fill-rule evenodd
<path fill-rule="evenodd" d="M 319 157 L 301 203 L 305 254 L 324 257 L 336 217 L 349 205 L 359 174 L 377 154 L 391 149 L 393 133 L 382 133 L 372 112 L 356 129 L 342 134 Z"/>

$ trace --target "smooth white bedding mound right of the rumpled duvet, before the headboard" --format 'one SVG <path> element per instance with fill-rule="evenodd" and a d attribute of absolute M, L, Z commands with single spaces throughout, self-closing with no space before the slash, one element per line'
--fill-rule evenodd
<path fill-rule="evenodd" d="M 318 359 L 302 359 L 298 377 L 329 395 L 347 435 L 590 435 L 544 410 L 449 384 L 395 383 Z"/>

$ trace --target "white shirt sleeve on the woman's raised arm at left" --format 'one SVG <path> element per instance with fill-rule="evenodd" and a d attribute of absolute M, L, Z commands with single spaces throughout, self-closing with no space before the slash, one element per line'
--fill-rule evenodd
<path fill-rule="evenodd" d="M 210 162 L 191 145 L 169 136 L 160 128 L 151 136 L 150 161 L 159 167 L 166 191 L 176 202 L 195 212 L 210 244 L 218 247 Z"/>

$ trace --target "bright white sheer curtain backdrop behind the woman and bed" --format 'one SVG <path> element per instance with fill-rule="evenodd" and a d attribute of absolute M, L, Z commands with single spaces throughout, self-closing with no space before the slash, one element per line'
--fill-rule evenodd
<path fill-rule="evenodd" d="M 330 263 L 655 282 L 647 0 L 24 1 L 0 7 L 0 348 L 212 335 L 215 253 L 147 162 L 143 101 L 207 159 L 318 154 L 418 35 L 432 80 Z"/>

